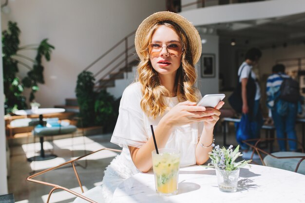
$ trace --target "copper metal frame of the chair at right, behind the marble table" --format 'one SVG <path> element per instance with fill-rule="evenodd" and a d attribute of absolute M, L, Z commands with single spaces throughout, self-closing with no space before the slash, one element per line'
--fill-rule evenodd
<path fill-rule="evenodd" d="M 297 172 L 298 169 L 299 169 L 299 166 L 300 164 L 305 160 L 305 156 L 283 156 L 283 157 L 279 157 L 279 156 L 275 156 L 271 153 L 268 153 L 267 151 L 261 149 L 259 146 L 259 143 L 260 142 L 273 142 L 273 141 L 278 141 L 278 140 L 285 140 L 285 141 L 294 141 L 297 143 L 297 145 L 300 145 L 301 147 L 301 150 L 302 150 L 302 153 L 304 153 L 304 148 L 303 148 L 303 145 L 301 142 L 297 141 L 297 140 L 294 140 L 294 139 L 287 139 L 287 138 L 258 138 L 258 139 L 249 139 L 249 140 L 243 140 L 242 142 L 247 144 L 249 147 L 253 148 L 253 151 L 252 151 L 252 155 L 251 155 L 251 158 L 253 157 L 253 154 L 254 154 L 254 151 L 256 151 L 256 153 L 258 154 L 258 156 L 260 157 L 261 161 L 262 161 L 262 164 L 264 166 L 266 166 L 265 162 L 264 162 L 264 159 L 262 157 L 262 154 L 266 154 L 266 155 L 269 155 L 273 158 L 276 158 L 276 159 L 292 159 L 292 158 L 301 158 L 300 161 L 298 162 L 294 172 Z M 252 145 L 251 143 L 254 143 L 254 145 Z"/>

